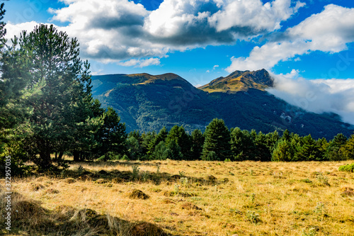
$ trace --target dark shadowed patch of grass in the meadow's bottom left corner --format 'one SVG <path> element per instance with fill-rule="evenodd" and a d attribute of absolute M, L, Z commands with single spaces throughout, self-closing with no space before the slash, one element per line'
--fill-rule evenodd
<path fill-rule="evenodd" d="M 1 215 L 6 215 L 5 193 L 0 193 Z M 5 219 L 0 219 L 5 225 Z M 2 231 L 1 231 L 2 230 Z M 6 235 L 4 227 L 0 235 Z M 11 235 L 169 235 L 161 227 L 147 222 L 132 223 L 89 208 L 59 206 L 54 210 L 28 201 L 20 193 L 11 194 Z"/>

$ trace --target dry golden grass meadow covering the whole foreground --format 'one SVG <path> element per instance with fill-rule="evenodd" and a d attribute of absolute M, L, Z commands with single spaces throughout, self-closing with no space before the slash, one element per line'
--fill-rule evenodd
<path fill-rule="evenodd" d="M 347 163 L 76 163 L 12 180 L 10 235 L 353 236 Z"/>

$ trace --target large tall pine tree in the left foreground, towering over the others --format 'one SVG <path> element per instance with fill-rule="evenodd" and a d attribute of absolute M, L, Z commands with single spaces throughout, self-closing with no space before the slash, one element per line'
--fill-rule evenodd
<path fill-rule="evenodd" d="M 98 123 L 90 119 L 89 63 L 81 62 L 76 38 L 53 26 L 23 31 L 18 45 L 19 57 L 29 61 L 25 68 L 17 68 L 17 73 L 29 77 L 22 99 L 31 109 L 18 133 L 25 134 L 21 142 L 33 162 L 45 169 L 52 165 L 53 152 L 91 142 L 93 135 L 82 129 Z M 8 69 L 13 71 L 16 68 Z"/>

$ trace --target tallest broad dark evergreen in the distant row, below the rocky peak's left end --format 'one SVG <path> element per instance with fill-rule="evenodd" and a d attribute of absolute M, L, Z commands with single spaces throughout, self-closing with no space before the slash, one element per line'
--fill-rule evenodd
<path fill-rule="evenodd" d="M 202 159 L 207 159 L 209 152 L 215 152 L 221 161 L 231 157 L 230 132 L 222 119 L 215 118 L 205 129 Z"/>

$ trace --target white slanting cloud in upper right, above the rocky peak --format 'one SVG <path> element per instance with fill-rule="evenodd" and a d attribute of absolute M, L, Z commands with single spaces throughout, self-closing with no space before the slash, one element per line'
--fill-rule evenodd
<path fill-rule="evenodd" d="M 236 69 L 271 69 L 280 61 L 312 51 L 341 52 L 354 41 L 354 9 L 333 4 L 278 35 L 274 42 L 254 47 L 249 57 L 232 57 L 228 72 Z"/>

